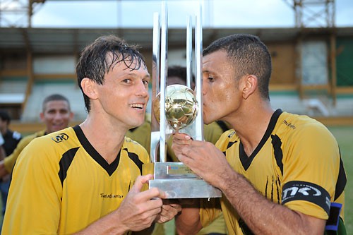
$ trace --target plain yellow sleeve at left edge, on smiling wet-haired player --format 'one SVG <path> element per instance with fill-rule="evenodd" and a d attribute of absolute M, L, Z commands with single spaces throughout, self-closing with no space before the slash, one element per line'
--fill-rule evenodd
<path fill-rule="evenodd" d="M 4 217 L 4 234 L 56 234 L 62 186 L 55 148 L 36 138 L 20 153 L 13 169 Z"/>

